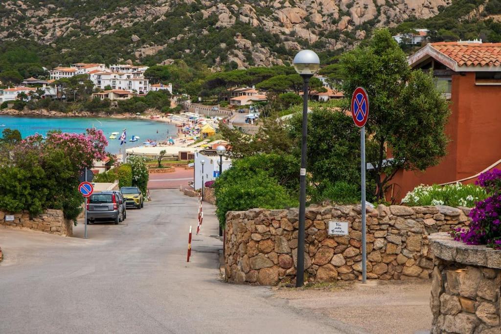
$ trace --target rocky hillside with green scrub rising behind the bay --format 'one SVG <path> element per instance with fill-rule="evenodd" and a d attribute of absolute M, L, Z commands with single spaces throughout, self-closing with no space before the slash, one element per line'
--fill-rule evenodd
<path fill-rule="evenodd" d="M 301 48 L 329 57 L 375 27 L 432 18 L 449 5 L 451 0 L 10 0 L 0 7 L 0 52 L 24 46 L 50 67 L 174 59 L 215 68 L 281 65 Z"/>

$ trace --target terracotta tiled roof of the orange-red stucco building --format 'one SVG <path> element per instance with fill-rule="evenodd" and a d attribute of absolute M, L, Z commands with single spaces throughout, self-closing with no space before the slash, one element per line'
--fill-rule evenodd
<path fill-rule="evenodd" d="M 458 66 L 501 66 L 501 43 L 437 42 L 431 46 Z"/>

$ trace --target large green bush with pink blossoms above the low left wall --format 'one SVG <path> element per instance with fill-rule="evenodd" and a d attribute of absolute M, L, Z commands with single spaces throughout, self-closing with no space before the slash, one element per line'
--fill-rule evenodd
<path fill-rule="evenodd" d="M 44 209 L 61 209 L 76 219 L 83 198 L 78 192 L 82 170 L 106 156 L 108 144 L 101 130 L 85 134 L 50 132 L 29 136 L 10 148 L 0 161 L 0 210 L 28 210 L 32 216 Z"/>

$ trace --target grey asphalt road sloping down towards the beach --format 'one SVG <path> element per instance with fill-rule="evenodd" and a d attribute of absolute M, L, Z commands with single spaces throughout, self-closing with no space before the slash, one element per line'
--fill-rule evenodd
<path fill-rule="evenodd" d="M 81 224 L 75 237 L 1 227 L 0 333 L 353 332 L 270 288 L 222 282 L 209 204 L 186 263 L 197 200 L 151 195 L 119 225 L 90 225 L 87 240 Z"/>

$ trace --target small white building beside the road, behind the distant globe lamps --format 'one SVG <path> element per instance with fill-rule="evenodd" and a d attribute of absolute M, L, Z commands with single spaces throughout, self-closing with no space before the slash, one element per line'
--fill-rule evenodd
<path fill-rule="evenodd" d="M 193 180 L 193 188 L 195 190 L 201 189 L 202 185 L 207 181 L 213 181 L 216 179 L 216 174 L 219 173 L 219 155 L 216 153 L 216 150 L 204 150 L 195 153 L 194 160 L 194 180 Z M 202 173 L 202 161 L 203 164 L 203 173 Z M 226 157 L 222 158 L 222 171 L 224 172 L 226 169 L 231 167 L 231 159 Z M 214 173 L 216 172 L 216 173 Z"/>

